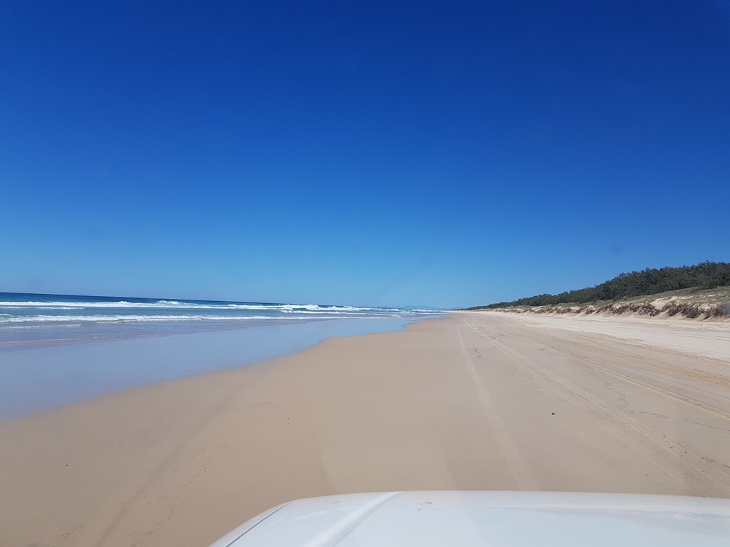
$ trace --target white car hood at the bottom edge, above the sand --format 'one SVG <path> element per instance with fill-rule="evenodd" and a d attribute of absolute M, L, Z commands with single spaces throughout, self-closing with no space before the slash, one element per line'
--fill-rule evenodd
<path fill-rule="evenodd" d="M 730 546 L 730 500 L 565 492 L 377 492 L 285 503 L 211 547 Z"/>

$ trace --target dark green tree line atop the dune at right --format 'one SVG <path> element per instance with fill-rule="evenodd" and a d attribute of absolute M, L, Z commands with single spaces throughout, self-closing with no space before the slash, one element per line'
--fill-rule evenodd
<path fill-rule="evenodd" d="M 469 309 L 495 309 L 512 306 L 548 306 L 566 303 L 588 303 L 596 300 L 618 300 L 629 296 L 656 295 L 668 290 L 714 289 L 730 285 L 730 263 L 703 262 L 678 268 L 647 268 L 621 274 L 595 287 L 561 292 L 559 295 L 537 295 L 512 302 L 499 302 Z"/>

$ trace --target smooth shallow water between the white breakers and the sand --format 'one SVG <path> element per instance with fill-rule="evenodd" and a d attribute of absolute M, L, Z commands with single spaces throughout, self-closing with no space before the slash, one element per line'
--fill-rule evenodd
<path fill-rule="evenodd" d="M 64 338 L 0 345 L 0 419 L 105 392 L 260 362 L 332 336 L 403 330 L 429 317 L 318 319 L 170 334 L 125 330 L 118 338 Z M 435 317 L 435 316 L 430 316 Z M 198 325 L 201 327 L 202 325 Z"/>

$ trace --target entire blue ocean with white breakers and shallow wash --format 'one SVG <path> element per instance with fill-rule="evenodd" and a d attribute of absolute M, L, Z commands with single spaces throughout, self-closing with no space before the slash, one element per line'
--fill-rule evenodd
<path fill-rule="evenodd" d="M 0 292 L 0 419 L 428 317 L 439 312 Z"/>

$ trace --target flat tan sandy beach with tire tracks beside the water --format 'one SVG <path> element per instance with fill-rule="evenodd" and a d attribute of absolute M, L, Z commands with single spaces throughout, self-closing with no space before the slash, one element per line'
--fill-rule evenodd
<path fill-rule="evenodd" d="M 299 497 L 730 497 L 730 325 L 463 312 L 0 422 L 2 546 L 204 547 Z"/>

